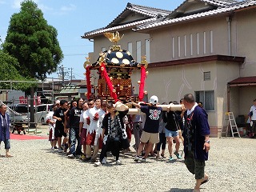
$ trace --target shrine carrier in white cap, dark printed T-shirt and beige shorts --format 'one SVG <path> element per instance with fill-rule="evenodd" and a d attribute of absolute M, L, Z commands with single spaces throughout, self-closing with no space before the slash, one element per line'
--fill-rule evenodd
<path fill-rule="evenodd" d="M 140 106 L 134 102 L 132 102 L 132 104 L 141 109 L 142 113 L 146 114 L 146 121 L 142 130 L 141 142 L 138 145 L 137 155 L 134 158 L 134 161 L 138 162 L 138 160 L 141 160 L 142 162 L 146 162 L 146 158 L 148 154 L 150 154 L 154 143 L 159 142 L 158 128 L 160 117 L 162 114 L 162 107 L 157 106 L 158 97 L 156 95 L 153 95 L 150 98 L 149 106 Z M 148 142 L 148 146 L 146 147 L 146 153 L 142 158 L 139 158 L 139 155 L 141 154 L 146 142 Z"/>

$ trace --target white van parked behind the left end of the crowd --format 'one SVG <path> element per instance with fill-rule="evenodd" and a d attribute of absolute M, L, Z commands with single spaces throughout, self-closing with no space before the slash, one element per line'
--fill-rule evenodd
<path fill-rule="evenodd" d="M 48 118 L 54 115 L 54 104 L 42 104 L 35 107 L 34 120 L 36 123 L 46 124 Z"/>

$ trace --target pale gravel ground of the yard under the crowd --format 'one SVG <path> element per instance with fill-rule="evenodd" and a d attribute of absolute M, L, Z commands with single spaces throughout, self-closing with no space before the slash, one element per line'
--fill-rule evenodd
<path fill-rule="evenodd" d="M 38 130 L 46 136 L 46 126 Z M 210 181 L 202 185 L 201 191 L 255 191 L 256 139 L 210 141 L 210 159 L 206 162 Z M 3 146 L 2 143 L 2 154 Z M 121 154 L 121 166 L 108 157 L 108 163 L 100 167 L 50 150 L 47 139 L 11 140 L 10 153 L 13 158 L 0 158 L 0 191 L 186 192 L 192 191 L 195 183 L 182 159 L 168 162 L 167 158 L 149 158 L 147 162 L 134 162 L 134 151 Z"/>

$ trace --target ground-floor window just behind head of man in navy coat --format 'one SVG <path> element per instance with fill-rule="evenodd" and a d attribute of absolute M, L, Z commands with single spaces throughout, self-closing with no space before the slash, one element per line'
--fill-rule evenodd
<path fill-rule="evenodd" d="M 214 90 L 195 91 L 195 101 L 202 102 L 205 110 L 214 110 Z"/>

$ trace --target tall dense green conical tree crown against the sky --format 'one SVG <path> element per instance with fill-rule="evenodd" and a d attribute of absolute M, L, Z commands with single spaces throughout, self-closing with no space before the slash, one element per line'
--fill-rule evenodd
<path fill-rule="evenodd" d="M 38 5 L 25 0 L 20 12 L 10 18 L 3 50 L 17 58 L 19 65 L 15 68 L 23 77 L 43 80 L 62 62 L 57 35 L 57 30 L 43 18 Z"/>

